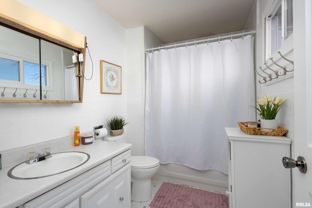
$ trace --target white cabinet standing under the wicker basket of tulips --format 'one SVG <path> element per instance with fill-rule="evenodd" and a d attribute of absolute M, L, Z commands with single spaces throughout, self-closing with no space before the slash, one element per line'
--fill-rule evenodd
<path fill-rule="evenodd" d="M 225 128 L 228 135 L 230 208 L 291 208 L 291 140 L 284 136 L 248 135 Z"/>

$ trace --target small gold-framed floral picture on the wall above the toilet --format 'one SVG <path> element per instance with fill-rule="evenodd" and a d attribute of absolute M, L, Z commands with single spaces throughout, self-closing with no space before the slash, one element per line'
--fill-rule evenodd
<path fill-rule="evenodd" d="M 121 94 L 122 67 L 100 60 L 101 94 Z"/>

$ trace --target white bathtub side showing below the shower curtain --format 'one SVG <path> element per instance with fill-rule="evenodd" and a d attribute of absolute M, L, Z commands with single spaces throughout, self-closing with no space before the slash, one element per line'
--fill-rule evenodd
<path fill-rule="evenodd" d="M 226 193 L 228 175 L 218 170 L 196 170 L 173 163 L 160 164 L 155 179 Z"/>

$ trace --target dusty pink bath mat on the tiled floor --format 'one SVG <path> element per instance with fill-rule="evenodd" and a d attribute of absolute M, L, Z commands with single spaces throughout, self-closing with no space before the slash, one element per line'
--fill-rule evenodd
<path fill-rule="evenodd" d="M 224 194 L 164 182 L 157 191 L 151 208 L 229 208 Z"/>

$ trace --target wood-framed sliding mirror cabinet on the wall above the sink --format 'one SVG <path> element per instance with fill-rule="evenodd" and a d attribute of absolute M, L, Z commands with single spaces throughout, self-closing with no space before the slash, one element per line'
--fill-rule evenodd
<path fill-rule="evenodd" d="M 0 17 L 0 102 L 82 102 L 86 38 L 60 39 Z"/>

